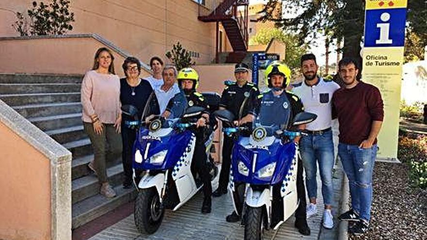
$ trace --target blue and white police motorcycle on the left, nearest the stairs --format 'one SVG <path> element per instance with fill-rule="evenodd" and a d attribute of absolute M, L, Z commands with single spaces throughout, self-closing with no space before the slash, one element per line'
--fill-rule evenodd
<path fill-rule="evenodd" d="M 147 108 L 146 108 L 147 109 Z M 122 107 L 125 114 L 136 116 L 133 106 Z M 173 211 L 193 197 L 202 183 L 191 171 L 196 136 L 191 128 L 197 116 L 205 111 L 201 107 L 190 107 L 178 118 L 162 119 L 155 116 L 149 123 L 135 119 L 129 127 L 137 129 L 133 145 L 132 167 L 138 196 L 134 206 L 134 222 L 139 232 L 152 234 L 160 227 L 164 210 Z M 206 154 L 213 187 L 217 186 L 217 167 L 210 158 L 213 132 L 206 138 Z M 140 172 L 143 171 L 139 179 Z"/>

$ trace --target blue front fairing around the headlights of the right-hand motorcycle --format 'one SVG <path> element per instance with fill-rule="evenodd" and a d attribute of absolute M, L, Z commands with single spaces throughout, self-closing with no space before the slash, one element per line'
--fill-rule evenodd
<path fill-rule="evenodd" d="M 245 148 L 242 145 L 243 137 L 240 137 L 234 144 L 232 151 L 232 169 L 233 180 L 238 182 L 246 182 L 255 185 L 273 185 L 283 181 L 287 177 L 289 169 L 292 168 L 292 160 L 295 157 L 296 144 L 291 141 L 286 144 L 281 144 L 279 139 L 276 139 L 273 144 L 266 146 L 268 150 L 263 148 Z M 247 142 L 247 141 L 246 141 Z M 252 161 L 254 154 L 257 154 L 255 171 L 252 172 Z M 242 161 L 249 169 L 248 176 L 239 173 L 238 162 Z M 270 177 L 259 177 L 258 171 L 266 165 L 276 161 L 276 168 Z"/>

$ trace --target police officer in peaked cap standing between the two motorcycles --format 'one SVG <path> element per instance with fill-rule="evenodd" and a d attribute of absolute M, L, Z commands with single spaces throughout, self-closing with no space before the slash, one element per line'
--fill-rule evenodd
<path fill-rule="evenodd" d="M 219 109 L 227 109 L 234 114 L 235 125 L 243 125 L 251 123 L 258 114 L 259 101 L 257 96 L 260 94 L 258 88 L 249 79 L 249 67 L 244 64 L 236 64 L 234 68 L 234 77 L 236 82 L 225 87 L 222 92 Z M 224 136 L 222 149 L 222 165 L 219 175 L 219 186 L 213 197 L 219 197 L 227 193 L 227 186 L 230 178 L 231 150 L 233 147 L 233 139 L 229 136 Z M 239 215 L 233 212 L 227 217 L 228 222 L 235 222 Z"/>

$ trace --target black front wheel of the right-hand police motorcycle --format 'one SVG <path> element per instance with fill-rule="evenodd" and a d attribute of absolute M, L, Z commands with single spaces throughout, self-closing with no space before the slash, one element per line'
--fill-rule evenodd
<path fill-rule="evenodd" d="M 245 209 L 245 240 L 262 240 L 264 231 L 263 207 Z"/>

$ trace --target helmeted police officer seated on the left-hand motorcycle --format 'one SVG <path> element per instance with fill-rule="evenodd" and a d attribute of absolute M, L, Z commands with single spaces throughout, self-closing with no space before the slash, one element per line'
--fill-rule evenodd
<path fill-rule="evenodd" d="M 196 88 L 198 85 L 198 74 L 193 68 L 183 68 L 178 73 L 178 85 L 183 90 L 187 99 L 187 107 L 203 107 L 206 110 L 209 109 L 203 95 L 197 93 Z M 213 126 L 207 126 L 209 123 L 209 112 L 202 112 L 197 120 L 196 129 L 196 146 L 194 149 L 193 164 L 192 167 L 197 171 L 200 179 L 203 183 L 203 194 L 204 200 L 201 212 L 211 212 L 211 195 L 212 195 L 212 184 L 211 175 L 209 174 L 209 167 L 207 165 L 207 153 L 205 142 L 207 137 L 211 134 Z"/>

